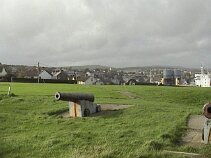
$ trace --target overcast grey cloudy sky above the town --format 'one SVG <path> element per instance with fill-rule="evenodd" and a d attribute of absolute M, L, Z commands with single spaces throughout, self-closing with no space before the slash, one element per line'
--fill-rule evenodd
<path fill-rule="evenodd" d="M 0 62 L 211 68 L 210 0 L 0 0 Z"/>

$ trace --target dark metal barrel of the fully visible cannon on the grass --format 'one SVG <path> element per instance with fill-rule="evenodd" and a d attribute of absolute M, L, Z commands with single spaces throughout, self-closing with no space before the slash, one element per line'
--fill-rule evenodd
<path fill-rule="evenodd" d="M 89 93 L 55 93 L 56 100 L 78 102 L 80 100 L 87 100 L 94 102 L 94 95 Z"/>

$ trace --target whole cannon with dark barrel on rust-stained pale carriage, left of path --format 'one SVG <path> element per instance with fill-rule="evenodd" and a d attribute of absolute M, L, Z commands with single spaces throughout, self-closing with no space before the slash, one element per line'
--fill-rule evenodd
<path fill-rule="evenodd" d="M 55 93 L 55 100 L 69 102 L 71 117 L 86 117 L 101 111 L 100 105 L 94 103 L 94 95 L 89 93 Z"/>

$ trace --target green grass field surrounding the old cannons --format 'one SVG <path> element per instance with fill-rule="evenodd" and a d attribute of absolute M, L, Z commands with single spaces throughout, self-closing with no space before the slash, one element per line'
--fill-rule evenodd
<path fill-rule="evenodd" d="M 211 145 L 179 144 L 188 116 L 201 114 L 202 106 L 211 101 L 211 88 L 21 83 L 11 87 L 13 97 L 0 91 L 1 158 L 173 157 L 163 150 L 211 155 Z M 135 106 L 97 117 L 62 118 L 56 113 L 66 110 L 67 102 L 54 101 L 56 91 L 89 92 L 96 103 Z"/>

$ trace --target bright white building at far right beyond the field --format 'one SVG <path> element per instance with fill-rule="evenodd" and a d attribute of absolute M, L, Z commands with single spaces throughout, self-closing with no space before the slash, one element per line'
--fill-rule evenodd
<path fill-rule="evenodd" d="M 195 74 L 195 85 L 199 87 L 210 87 L 210 76 L 207 74 Z"/>

